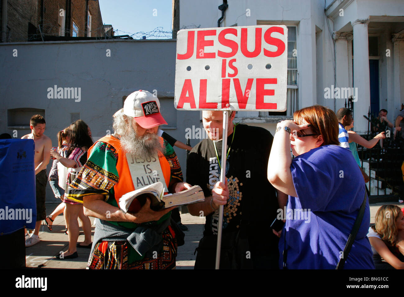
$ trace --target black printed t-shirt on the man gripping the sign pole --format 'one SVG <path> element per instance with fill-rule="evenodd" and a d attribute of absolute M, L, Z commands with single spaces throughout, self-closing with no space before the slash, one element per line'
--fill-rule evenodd
<path fill-rule="evenodd" d="M 269 225 L 276 218 L 276 190 L 267 179 L 267 165 L 273 136 L 261 127 L 236 125 L 227 137 L 226 162 L 229 200 L 224 207 L 223 233 L 236 231 L 240 223 L 248 224 L 248 240 L 252 249 L 265 252 L 278 250 L 278 238 Z M 216 141 L 221 162 L 222 141 Z M 213 141 L 204 139 L 190 152 L 187 159 L 187 183 L 200 185 L 206 197 L 212 195 L 220 181 L 220 167 Z M 206 217 L 204 236 L 217 234 L 219 211 Z M 240 222 L 241 220 L 241 222 Z M 264 252 L 264 251 L 263 251 Z"/>

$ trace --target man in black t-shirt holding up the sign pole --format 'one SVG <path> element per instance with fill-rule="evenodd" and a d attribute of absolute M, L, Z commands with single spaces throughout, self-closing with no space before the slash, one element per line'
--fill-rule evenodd
<path fill-rule="evenodd" d="M 187 159 L 187 183 L 200 185 L 206 197 L 188 205 L 191 215 L 206 216 L 195 269 L 215 268 L 220 205 L 224 205 L 220 268 L 277 269 L 278 238 L 269 226 L 287 196 L 278 192 L 277 200 L 277 190 L 267 180 L 273 137 L 264 128 L 235 125 L 234 116 L 231 112 L 227 131 L 227 185 L 220 182 L 223 112 L 202 112 L 209 139 L 198 143 Z"/>

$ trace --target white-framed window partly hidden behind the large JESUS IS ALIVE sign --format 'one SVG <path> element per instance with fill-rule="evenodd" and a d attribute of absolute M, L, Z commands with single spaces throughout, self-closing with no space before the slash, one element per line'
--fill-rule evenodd
<path fill-rule="evenodd" d="M 298 106 L 297 85 L 297 34 L 295 26 L 288 26 L 288 82 L 286 89 L 286 112 L 260 112 L 260 116 L 292 116 Z"/>

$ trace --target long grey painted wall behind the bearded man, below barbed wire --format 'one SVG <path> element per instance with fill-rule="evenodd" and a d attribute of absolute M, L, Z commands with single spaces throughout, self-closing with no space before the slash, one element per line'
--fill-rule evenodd
<path fill-rule="evenodd" d="M 13 49 L 18 56 L 13 57 Z M 106 57 L 106 50 L 111 57 Z M 46 132 L 56 146 L 56 133 L 69 125 L 70 113 L 80 118 L 99 139 L 112 129 L 112 115 L 122 108 L 122 96 L 143 89 L 157 90 L 162 114 L 174 129 L 162 128 L 185 143 L 185 128 L 199 126 L 198 112 L 174 108 L 175 40 L 97 40 L 0 44 L 0 131 L 13 135 L 7 110 L 32 107 L 45 110 Z M 48 99 L 47 89 L 80 87 L 81 101 Z M 165 99 L 164 97 L 171 97 Z M 26 119 L 29 126 L 29 118 Z M 30 133 L 18 130 L 18 137 Z M 195 145 L 196 140 L 191 140 Z M 175 148 L 185 175 L 185 151 Z M 51 164 L 48 165 L 49 173 Z M 52 190 L 47 199 L 55 201 Z"/>

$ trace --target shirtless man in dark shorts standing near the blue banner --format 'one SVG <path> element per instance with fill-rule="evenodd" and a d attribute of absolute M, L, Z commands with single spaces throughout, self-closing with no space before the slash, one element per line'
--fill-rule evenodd
<path fill-rule="evenodd" d="M 36 224 L 34 233 L 25 240 L 25 247 L 32 246 L 39 242 L 39 228 L 41 221 L 46 217 L 45 210 L 45 188 L 47 182 L 46 165 L 50 160 L 50 149 L 52 141 L 44 134 L 45 119 L 43 116 L 36 114 L 29 121 L 31 133 L 24 135 L 21 139 L 34 139 L 35 142 L 35 187 L 36 187 Z"/>

